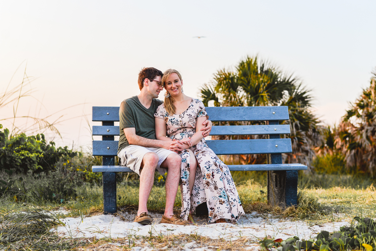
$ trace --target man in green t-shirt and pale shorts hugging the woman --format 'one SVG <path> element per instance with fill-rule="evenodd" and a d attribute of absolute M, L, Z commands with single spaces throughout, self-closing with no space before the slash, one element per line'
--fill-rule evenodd
<path fill-rule="evenodd" d="M 179 141 L 170 143 L 155 138 L 154 112 L 163 101 L 158 100 L 163 89 L 161 83 L 163 73 L 155 68 L 144 68 L 138 74 L 140 94 L 121 102 L 120 139 L 118 157 L 121 165 L 127 166 L 140 176 L 139 203 L 135 222 L 143 225 L 151 224 L 148 215 L 147 200 L 152 191 L 155 170 L 164 174 L 168 170 L 165 189 L 166 207 L 161 223 L 187 225 L 185 221 L 173 215 L 173 207 L 180 180 L 181 158 L 177 154 L 182 150 Z M 211 121 L 202 130 L 208 136 Z"/>

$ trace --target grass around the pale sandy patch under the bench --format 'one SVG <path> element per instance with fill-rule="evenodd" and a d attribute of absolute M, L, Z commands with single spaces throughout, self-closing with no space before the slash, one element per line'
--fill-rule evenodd
<path fill-rule="evenodd" d="M 12 177 L 18 180 L 17 177 Z M 345 177 L 346 178 L 346 177 Z M 258 178 L 262 180 L 262 178 Z M 337 177 L 341 180 L 341 177 Z M 353 180 L 356 184 L 356 179 Z M 241 181 L 237 189 L 246 213 L 258 212 L 267 218 L 271 215 L 290 217 L 293 220 L 303 220 L 315 224 L 333 220 L 352 219 L 354 216 L 374 218 L 376 203 L 376 188 L 373 184 L 361 186 L 362 180 L 355 187 L 329 186 L 314 187 L 306 183 L 299 190 L 297 207 L 281 210 L 267 204 L 267 187 L 263 183 L 251 179 Z M 333 182 L 337 184 L 336 182 Z M 117 185 L 117 205 L 120 211 L 134 213 L 138 205 L 138 186 L 122 182 Z M 309 185 L 309 186 L 308 186 Z M 308 188 L 309 187 L 309 188 Z M 1 196 L 0 196 L 1 197 Z M 17 198 L 27 198 L 27 203 L 16 201 Z M 33 206 L 38 205 L 38 206 Z M 180 193 L 175 200 L 175 213 L 180 211 Z M 150 211 L 162 213 L 165 207 L 165 189 L 163 186 L 153 186 L 149 198 Z M 49 212 L 65 209 L 69 213 Z M 57 219 L 65 217 L 91 216 L 103 213 L 103 190 L 98 184 L 82 183 L 76 187 L 76 197 L 64 203 L 34 198 L 29 195 L 3 195 L 0 202 L 0 249 L 5 250 L 129 250 L 133 245 L 150 248 L 182 248 L 188 243 L 195 242 L 194 248 L 209 246 L 211 249 L 242 250 L 251 245 L 249 240 L 240 238 L 230 243 L 223 240 L 212 240 L 203 236 L 132 236 L 120 239 L 64 239 L 50 232 Z M 116 243 L 116 245 L 114 244 Z M 48 243 L 48 244 L 47 244 Z"/>

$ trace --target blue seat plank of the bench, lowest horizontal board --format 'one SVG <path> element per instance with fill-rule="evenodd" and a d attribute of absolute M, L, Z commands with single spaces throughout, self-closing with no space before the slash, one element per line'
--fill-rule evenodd
<path fill-rule="evenodd" d="M 230 171 L 307 170 L 302 164 L 229 165 Z M 93 166 L 93 172 L 133 172 L 125 166 Z"/>

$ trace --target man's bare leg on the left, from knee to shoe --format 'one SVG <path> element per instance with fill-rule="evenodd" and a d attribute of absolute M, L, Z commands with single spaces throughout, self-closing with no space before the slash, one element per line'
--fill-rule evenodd
<path fill-rule="evenodd" d="M 155 168 L 158 165 L 158 155 L 155 153 L 146 153 L 141 162 L 139 201 L 137 216 L 141 213 L 147 213 L 147 200 L 154 184 Z"/>

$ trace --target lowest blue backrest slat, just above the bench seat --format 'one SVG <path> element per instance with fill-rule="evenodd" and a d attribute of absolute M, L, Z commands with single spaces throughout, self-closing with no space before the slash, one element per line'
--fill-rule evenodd
<path fill-rule="evenodd" d="M 293 151 L 291 139 L 208 140 L 206 143 L 217 155 L 292 153 Z M 93 141 L 94 156 L 116 156 L 117 150 L 118 141 Z"/>

